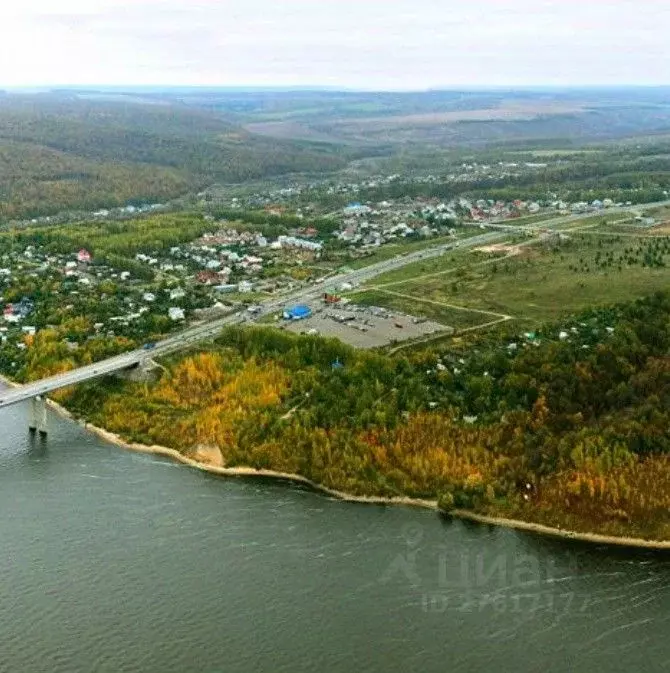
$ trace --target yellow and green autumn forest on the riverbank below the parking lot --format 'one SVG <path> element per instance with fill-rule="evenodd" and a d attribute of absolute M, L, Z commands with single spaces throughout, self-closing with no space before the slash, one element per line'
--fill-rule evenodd
<path fill-rule="evenodd" d="M 670 539 L 670 294 L 404 356 L 229 328 L 152 383 L 60 393 L 76 415 L 227 466 L 439 498 L 570 530 Z"/>

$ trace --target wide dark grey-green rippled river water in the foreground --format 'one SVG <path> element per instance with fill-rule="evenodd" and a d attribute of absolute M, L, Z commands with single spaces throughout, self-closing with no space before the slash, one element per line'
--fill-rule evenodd
<path fill-rule="evenodd" d="M 670 671 L 670 557 L 338 502 L 0 412 L 0 671 Z"/>

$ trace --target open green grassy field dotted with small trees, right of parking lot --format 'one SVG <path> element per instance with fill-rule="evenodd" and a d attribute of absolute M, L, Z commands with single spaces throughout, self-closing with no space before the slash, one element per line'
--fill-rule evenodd
<path fill-rule="evenodd" d="M 381 292 L 393 291 L 413 298 L 402 300 L 403 307 L 412 306 L 411 313 L 447 320 L 447 324 L 451 316 L 437 318 L 438 304 L 491 311 L 530 325 L 670 287 L 670 239 L 574 233 L 555 247 L 533 242 L 504 259 L 482 261 L 481 253 L 470 254 L 479 256 L 478 263 L 466 262 L 463 253 L 436 260 L 446 273 L 420 273 L 414 265 L 394 272 L 400 282 L 391 286 L 384 285 L 387 278 L 375 279 L 371 285 L 379 289 L 374 300 L 398 306 L 398 297 Z M 415 272 L 413 279 L 409 271 Z M 398 278 L 400 273 L 406 274 L 404 278 Z"/>

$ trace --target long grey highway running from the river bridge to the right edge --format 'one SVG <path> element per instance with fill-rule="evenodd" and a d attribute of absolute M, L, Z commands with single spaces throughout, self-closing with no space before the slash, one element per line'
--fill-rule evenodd
<path fill-rule="evenodd" d="M 626 212 L 633 209 L 642 210 L 644 208 L 665 205 L 670 205 L 670 201 L 634 207 L 609 208 L 607 211 L 602 211 L 602 214 Z M 287 305 L 314 300 L 323 295 L 325 292 L 332 293 L 336 291 L 337 287 L 341 286 L 343 283 L 360 285 L 361 283 L 371 280 L 375 276 L 387 273 L 388 271 L 399 269 L 414 262 L 439 257 L 440 255 L 443 255 L 446 252 L 456 248 L 462 250 L 465 248 L 472 248 L 490 243 L 501 242 L 515 233 L 532 233 L 533 231 L 540 229 L 547 229 L 553 226 L 591 218 L 598 214 L 600 213 L 591 212 L 580 215 L 568 215 L 551 220 L 536 222 L 523 227 L 515 227 L 513 224 L 509 224 L 504 228 L 504 230 L 501 230 L 501 228 L 496 231 L 489 231 L 487 233 L 482 233 L 470 238 L 458 239 L 453 243 L 442 243 L 440 245 L 428 247 L 423 250 L 417 250 L 405 255 L 397 255 L 391 259 L 377 262 L 355 271 L 340 273 L 338 275 L 331 276 L 320 283 L 300 288 L 298 290 L 281 295 L 276 299 L 271 299 L 267 302 L 264 302 L 261 304 L 260 310 L 254 315 L 249 313 L 235 313 L 217 320 L 213 320 L 206 324 L 194 325 L 182 332 L 179 332 L 178 334 L 174 334 L 162 341 L 157 342 L 151 349 L 139 348 L 129 351 L 128 353 L 123 353 L 122 355 L 108 358 L 107 360 L 101 360 L 100 362 L 86 365 L 84 367 L 79 367 L 62 374 L 56 374 L 54 376 L 41 379 L 40 381 L 28 383 L 17 388 L 0 390 L 0 409 L 37 396 L 48 395 L 50 392 L 58 390 L 59 388 L 65 388 L 77 383 L 90 381 L 91 379 L 107 376 L 115 372 L 129 369 L 153 357 L 167 355 L 169 353 L 183 350 L 193 344 L 214 337 L 228 325 L 253 323 L 263 316 L 282 310 Z"/>

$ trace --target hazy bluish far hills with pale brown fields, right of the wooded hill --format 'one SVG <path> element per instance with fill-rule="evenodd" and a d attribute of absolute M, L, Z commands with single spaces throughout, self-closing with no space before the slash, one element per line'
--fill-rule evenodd
<path fill-rule="evenodd" d="M 615 140 L 670 130 L 670 89 L 422 92 L 402 94 L 237 94 L 218 109 L 275 138 L 348 145 L 482 147 L 519 141 Z"/>

